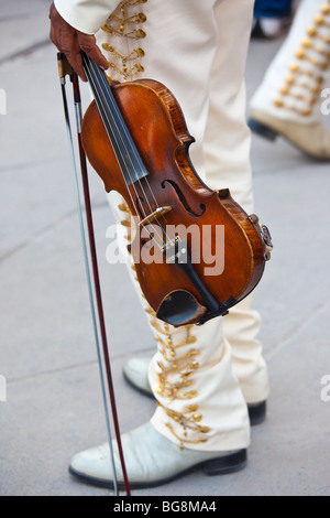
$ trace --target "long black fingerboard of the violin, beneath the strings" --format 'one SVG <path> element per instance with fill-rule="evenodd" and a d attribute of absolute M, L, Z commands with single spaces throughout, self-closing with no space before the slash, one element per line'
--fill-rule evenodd
<path fill-rule="evenodd" d="M 103 71 L 84 52 L 82 64 L 96 105 L 128 186 L 147 176 L 143 160 Z"/>

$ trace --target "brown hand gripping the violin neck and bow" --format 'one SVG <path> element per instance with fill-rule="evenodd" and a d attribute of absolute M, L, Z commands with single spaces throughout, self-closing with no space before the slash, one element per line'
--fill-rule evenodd
<path fill-rule="evenodd" d="M 94 34 L 85 34 L 69 25 L 54 6 L 50 9 L 51 40 L 59 52 L 63 52 L 77 75 L 87 82 L 82 68 L 81 51 L 84 51 L 103 71 L 109 68 L 106 57 L 96 44 Z"/>

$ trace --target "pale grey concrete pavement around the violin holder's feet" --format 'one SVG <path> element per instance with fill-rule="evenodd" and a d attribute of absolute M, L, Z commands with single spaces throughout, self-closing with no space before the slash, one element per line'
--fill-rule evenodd
<path fill-rule="evenodd" d="M 76 451 L 106 440 L 106 424 L 56 51 L 47 43 L 48 4 L 1 0 L 0 375 L 7 402 L 0 401 L 0 495 L 107 495 L 67 473 Z M 279 44 L 252 43 L 249 96 Z M 330 117 L 324 123 L 330 130 Z M 256 213 L 275 242 L 255 294 L 272 381 L 267 421 L 253 429 L 243 472 L 207 477 L 197 471 L 134 495 L 330 495 L 330 402 L 321 398 L 321 380 L 330 375 L 329 164 L 258 138 L 252 163 Z M 124 432 L 150 419 L 155 404 L 125 385 L 122 366 L 133 354 L 152 353 L 154 342 L 129 295 L 125 267 L 106 263 L 112 216 L 101 183 L 96 175 L 90 182 Z"/>

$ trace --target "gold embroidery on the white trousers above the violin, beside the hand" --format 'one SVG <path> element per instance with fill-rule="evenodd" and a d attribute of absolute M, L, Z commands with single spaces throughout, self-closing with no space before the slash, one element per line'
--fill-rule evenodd
<path fill-rule="evenodd" d="M 131 80 L 133 77 L 144 72 L 144 67 L 141 63 L 141 58 L 144 57 L 145 54 L 144 50 L 141 48 L 141 46 L 131 50 L 129 42 L 132 40 L 143 40 L 146 36 L 145 31 L 142 29 L 142 25 L 147 20 L 146 15 L 141 10 L 139 12 L 132 12 L 132 8 L 146 2 L 147 0 L 121 1 L 116 11 L 102 25 L 102 31 L 108 33 L 111 37 L 111 44 L 108 42 L 102 44 L 102 48 L 110 54 L 109 66 L 111 73 L 124 82 Z M 124 52 L 114 47 L 116 39 L 124 39 Z M 111 79 L 113 79 L 113 77 L 111 77 Z"/>

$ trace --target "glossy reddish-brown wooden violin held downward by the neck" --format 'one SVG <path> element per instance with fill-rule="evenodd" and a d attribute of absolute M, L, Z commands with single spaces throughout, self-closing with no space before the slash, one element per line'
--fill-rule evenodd
<path fill-rule="evenodd" d="M 85 53 L 82 63 L 95 96 L 82 147 L 106 191 L 120 193 L 132 214 L 129 251 L 147 302 L 176 327 L 226 315 L 263 276 L 267 227 L 229 188 L 200 180 L 189 159 L 195 139 L 166 86 L 110 82 Z"/>

